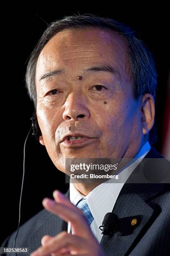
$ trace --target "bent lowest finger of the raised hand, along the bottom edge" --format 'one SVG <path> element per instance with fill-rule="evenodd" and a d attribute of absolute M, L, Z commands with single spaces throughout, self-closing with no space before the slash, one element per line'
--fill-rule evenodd
<path fill-rule="evenodd" d="M 46 256 L 55 254 L 62 248 L 75 253 L 87 253 L 87 243 L 85 240 L 68 234 L 66 231 L 61 232 L 57 236 L 51 238 L 44 246 L 40 246 L 36 251 L 33 251 L 30 256 Z"/>

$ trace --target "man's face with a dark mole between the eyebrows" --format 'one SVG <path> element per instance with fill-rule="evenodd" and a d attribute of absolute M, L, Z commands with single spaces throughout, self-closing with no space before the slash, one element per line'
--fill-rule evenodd
<path fill-rule="evenodd" d="M 116 33 L 99 28 L 57 33 L 38 58 L 36 90 L 43 142 L 62 172 L 65 158 L 138 153 L 140 101 L 133 97 L 126 43 Z M 82 138 L 64 138 L 72 135 Z"/>

